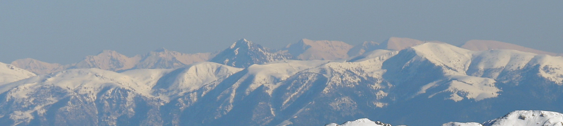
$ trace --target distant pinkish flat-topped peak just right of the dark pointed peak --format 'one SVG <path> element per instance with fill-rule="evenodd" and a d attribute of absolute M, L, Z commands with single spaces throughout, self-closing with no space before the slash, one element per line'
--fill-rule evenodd
<path fill-rule="evenodd" d="M 288 44 L 280 52 L 287 52 L 299 60 L 337 60 L 346 59 L 352 46 L 337 40 L 302 39 Z"/>

